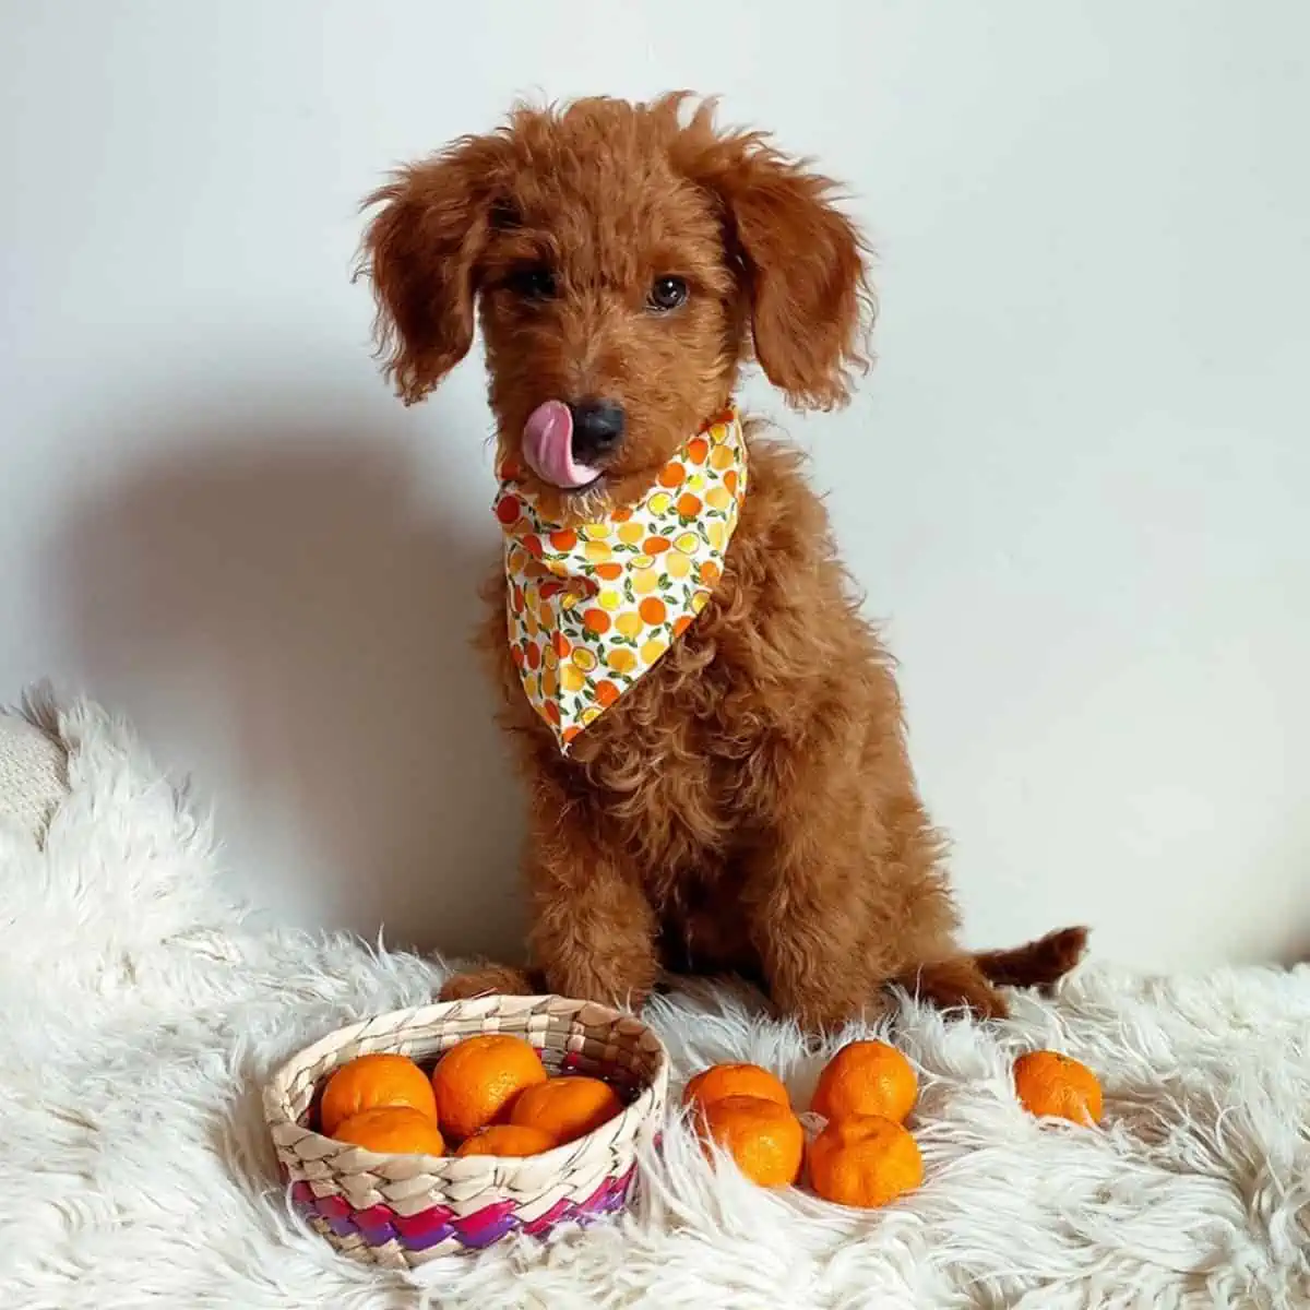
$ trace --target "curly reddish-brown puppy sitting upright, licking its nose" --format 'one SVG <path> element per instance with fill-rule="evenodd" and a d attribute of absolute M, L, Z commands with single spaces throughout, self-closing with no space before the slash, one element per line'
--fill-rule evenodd
<path fill-rule="evenodd" d="M 744 360 L 791 405 L 820 409 L 844 402 L 866 364 L 866 249 L 833 183 L 758 132 L 718 130 L 710 106 L 688 107 L 669 96 L 519 109 L 368 202 L 381 206 L 365 269 L 389 376 L 407 403 L 422 400 L 479 320 L 504 476 L 557 525 L 555 542 L 654 504 L 669 461 L 730 406 Z M 544 981 L 635 1005 L 668 967 L 756 977 L 808 1028 L 870 1011 L 897 981 L 942 1006 L 1005 1014 L 997 985 L 1055 981 L 1085 933 L 962 951 L 892 660 L 800 457 L 749 426 L 743 443 L 735 531 L 720 565 L 697 566 L 713 580 L 707 604 L 617 698 L 588 680 L 593 722 L 571 739 L 558 706 L 541 703 L 570 642 L 550 637 L 549 668 L 529 673 L 532 643 L 510 641 L 507 605 L 511 630 L 536 633 L 552 616 L 516 617 L 523 588 L 498 567 L 483 645 L 529 782 L 538 972 L 466 975 L 447 994 Z M 697 532 L 700 504 L 679 500 Z M 502 520 L 520 512 L 515 500 Z M 511 574 L 515 558 L 541 565 L 532 540 L 520 536 L 517 557 L 511 545 Z M 597 550 L 587 558 L 609 558 Z M 618 578 L 630 565 L 610 567 Z M 586 600 L 600 583 L 579 586 Z M 609 658 L 625 672 L 637 663 Z"/>

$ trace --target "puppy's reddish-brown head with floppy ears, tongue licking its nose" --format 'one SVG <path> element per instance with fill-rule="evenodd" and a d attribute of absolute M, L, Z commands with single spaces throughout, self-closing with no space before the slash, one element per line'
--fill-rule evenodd
<path fill-rule="evenodd" d="M 367 202 L 400 394 L 464 358 L 477 310 L 502 455 L 566 496 L 639 495 L 752 354 L 804 407 L 865 362 L 865 248 L 833 185 L 685 101 L 520 109 Z"/>

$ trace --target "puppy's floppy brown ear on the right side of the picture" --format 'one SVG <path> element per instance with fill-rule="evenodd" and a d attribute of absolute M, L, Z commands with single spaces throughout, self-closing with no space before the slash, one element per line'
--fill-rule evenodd
<path fill-rule="evenodd" d="M 760 132 L 715 134 L 711 114 L 703 105 L 686 128 L 688 168 L 723 206 L 756 359 L 798 409 L 832 409 L 849 398 L 852 369 L 869 367 L 867 248 L 833 182 Z"/>

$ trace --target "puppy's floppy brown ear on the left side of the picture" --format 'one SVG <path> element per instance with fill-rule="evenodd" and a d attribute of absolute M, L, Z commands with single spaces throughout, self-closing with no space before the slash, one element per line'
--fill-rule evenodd
<path fill-rule="evenodd" d="M 383 210 L 364 234 L 359 271 L 373 283 L 379 358 L 406 405 L 423 400 L 473 345 L 502 145 L 465 138 L 364 200 Z"/>

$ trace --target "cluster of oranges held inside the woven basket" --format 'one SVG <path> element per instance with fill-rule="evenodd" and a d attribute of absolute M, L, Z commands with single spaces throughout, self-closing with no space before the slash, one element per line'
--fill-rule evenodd
<path fill-rule="evenodd" d="M 466 1038 L 428 1077 L 409 1056 L 359 1056 L 324 1086 L 318 1125 L 383 1154 L 536 1155 L 622 1110 L 601 1078 L 552 1078 L 536 1048 L 508 1034 Z"/>

